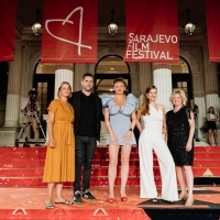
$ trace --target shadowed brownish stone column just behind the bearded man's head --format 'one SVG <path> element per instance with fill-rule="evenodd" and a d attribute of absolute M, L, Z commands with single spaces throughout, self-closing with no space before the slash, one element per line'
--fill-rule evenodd
<path fill-rule="evenodd" d="M 88 73 L 86 64 L 75 64 L 75 75 L 74 75 L 74 91 L 81 89 L 81 77 L 84 74 Z"/>

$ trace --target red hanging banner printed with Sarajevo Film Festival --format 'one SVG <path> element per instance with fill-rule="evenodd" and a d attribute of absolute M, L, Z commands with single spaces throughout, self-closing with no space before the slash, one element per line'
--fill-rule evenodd
<path fill-rule="evenodd" d="M 127 1 L 125 62 L 179 61 L 177 0 Z"/>

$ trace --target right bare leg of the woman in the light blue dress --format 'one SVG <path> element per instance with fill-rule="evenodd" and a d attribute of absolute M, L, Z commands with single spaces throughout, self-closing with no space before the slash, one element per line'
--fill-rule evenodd
<path fill-rule="evenodd" d="M 129 161 L 130 161 L 131 146 L 121 146 L 121 197 L 127 197 L 125 187 L 129 176 Z"/>

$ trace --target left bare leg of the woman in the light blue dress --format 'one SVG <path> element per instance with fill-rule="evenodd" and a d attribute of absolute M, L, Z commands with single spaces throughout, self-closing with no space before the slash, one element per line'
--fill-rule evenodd
<path fill-rule="evenodd" d="M 114 198 L 114 180 L 117 177 L 117 165 L 118 165 L 119 146 L 109 145 L 109 198 Z"/>

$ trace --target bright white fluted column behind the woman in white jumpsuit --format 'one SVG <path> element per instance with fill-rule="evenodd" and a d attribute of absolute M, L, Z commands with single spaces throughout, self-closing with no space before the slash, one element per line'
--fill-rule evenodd
<path fill-rule="evenodd" d="M 169 102 L 172 95 L 170 64 L 153 64 L 153 84 L 157 87 L 157 102 L 165 106 L 166 111 L 173 109 Z"/>

